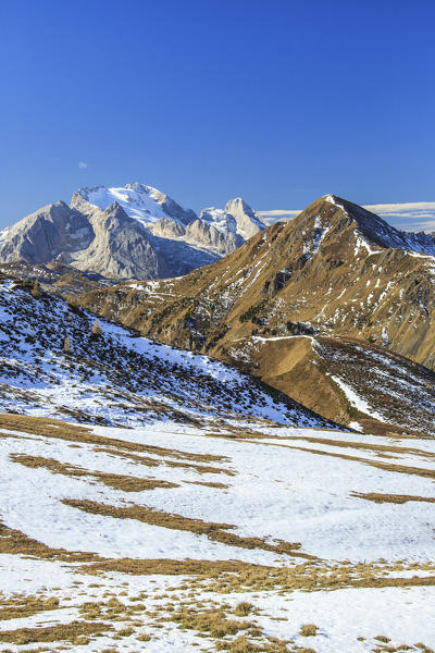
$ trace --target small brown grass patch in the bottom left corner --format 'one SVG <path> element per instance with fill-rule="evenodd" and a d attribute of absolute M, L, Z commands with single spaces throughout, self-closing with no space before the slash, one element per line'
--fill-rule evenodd
<path fill-rule="evenodd" d="M 72 643 L 87 643 L 87 638 L 113 630 L 110 624 L 98 621 L 71 621 L 59 626 L 46 628 L 17 628 L 16 630 L 0 630 L 0 641 L 17 645 L 35 642 L 69 641 Z M 83 638 L 83 639 L 82 639 Z M 86 641 L 84 641 L 86 640 Z"/>

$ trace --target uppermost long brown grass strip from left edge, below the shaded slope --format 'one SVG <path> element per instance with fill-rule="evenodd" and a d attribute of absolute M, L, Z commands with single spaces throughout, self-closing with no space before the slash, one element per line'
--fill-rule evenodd
<path fill-rule="evenodd" d="M 127 457 L 128 453 L 144 453 L 157 456 L 163 456 L 165 459 L 147 458 L 137 456 L 135 459 L 142 465 L 150 467 L 166 465 L 170 467 L 181 467 L 192 469 L 199 473 L 225 473 L 233 476 L 228 469 L 212 467 L 209 465 L 198 465 L 196 463 L 227 461 L 226 456 L 213 456 L 211 454 L 192 454 L 179 449 L 170 449 L 154 445 L 146 445 L 137 442 L 119 440 L 115 438 L 104 438 L 96 435 L 88 427 L 70 424 L 60 420 L 48 419 L 45 417 L 28 417 L 26 415 L 0 414 L 0 429 L 12 430 L 28 433 L 30 435 L 41 435 L 44 438 L 54 438 L 66 442 L 99 445 L 103 447 L 99 451 L 105 451 L 112 455 Z M 170 459 L 167 459 L 170 458 Z M 175 458 L 175 459 L 173 459 Z"/>

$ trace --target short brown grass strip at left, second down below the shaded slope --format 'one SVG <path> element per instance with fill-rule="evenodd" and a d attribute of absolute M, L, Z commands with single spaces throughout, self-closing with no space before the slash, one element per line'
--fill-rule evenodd
<path fill-rule="evenodd" d="M 27 456 L 24 454 L 11 454 L 15 463 L 25 467 L 38 469 L 48 469 L 53 473 L 60 473 L 69 477 L 89 477 L 96 481 L 109 485 L 114 490 L 123 492 L 142 492 L 144 490 L 154 490 L 156 488 L 179 488 L 177 483 L 170 481 L 160 481 L 157 479 L 141 479 L 137 477 L 123 476 L 119 473 L 104 473 L 102 471 L 88 471 L 75 465 L 65 465 L 53 458 L 44 458 L 41 456 Z"/>

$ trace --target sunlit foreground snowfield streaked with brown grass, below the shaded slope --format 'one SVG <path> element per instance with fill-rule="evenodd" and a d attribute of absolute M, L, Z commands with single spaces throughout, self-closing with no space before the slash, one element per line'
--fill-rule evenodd
<path fill-rule="evenodd" d="M 433 440 L 9 415 L 0 443 L 0 650 L 435 645 Z"/>

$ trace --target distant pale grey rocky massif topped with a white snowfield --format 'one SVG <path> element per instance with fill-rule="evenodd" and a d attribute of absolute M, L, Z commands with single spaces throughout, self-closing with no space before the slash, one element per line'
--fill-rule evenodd
<path fill-rule="evenodd" d="M 241 199 L 200 215 L 142 184 L 80 188 L 0 232 L 0 262 L 52 261 L 110 280 L 177 276 L 264 229 Z"/>

